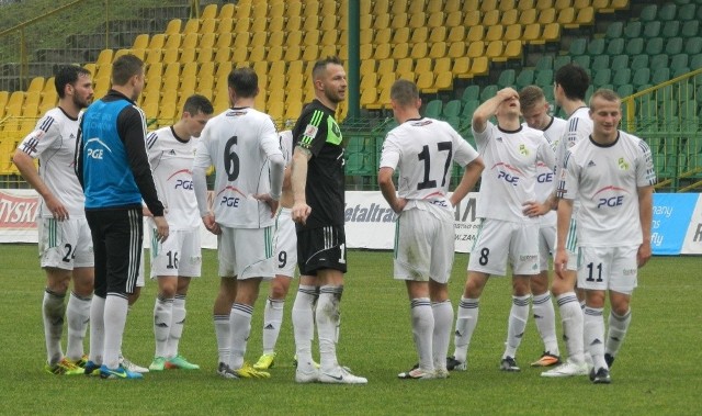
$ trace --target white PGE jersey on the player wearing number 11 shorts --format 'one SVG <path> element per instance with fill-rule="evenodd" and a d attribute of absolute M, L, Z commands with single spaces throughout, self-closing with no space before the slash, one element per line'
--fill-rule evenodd
<path fill-rule="evenodd" d="M 650 148 L 619 132 L 610 146 L 591 139 L 573 146 L 564 160 L 561 198 L 580 201 L 578 245 L 614 247 L 642 244 L 637 189 L 656 183 Z"/>

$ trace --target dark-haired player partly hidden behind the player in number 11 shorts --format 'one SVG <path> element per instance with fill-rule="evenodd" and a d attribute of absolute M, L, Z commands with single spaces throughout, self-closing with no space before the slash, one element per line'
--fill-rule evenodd
<path fill-rule="evenodd" d="M 575 64 L 566 64 L 556 71 L 554 85 L 554 98 L 568 114 L 566 132 L 556 147 L 556 178 L 561 176 L 561 169 L 565 155 L 569 148 L 581 140 L 587 140 L 592 133 L 592 120 L 585 103 L 585 94 L 590 86 L 588 72 Z M 579 202 L 576 200 L 574 210 L 577 212 Z M 541 375 L 550 378 L 587 375 L 582 339 L 582 307 L 575 292 L 576 270 L 578 268 L 578 248 L 576 234 L 576 217 L 570 222 L 570 228 L 566 229 L 566 247 L 568 249 L 568 265 L 564 268 L 554 268 L 555 278 L 551 286 L 553 295 L 561 311 L 563 323 L 563 338 L 568 350 L 568 360 L 555 369 L 543 372 Z M 556 234 L 561 233 L 561 229 Z M 561 238 L 561 237 L 558 237 Z"/>

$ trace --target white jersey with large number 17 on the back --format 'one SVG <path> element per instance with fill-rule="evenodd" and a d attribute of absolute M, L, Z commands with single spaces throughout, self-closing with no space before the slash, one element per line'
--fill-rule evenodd
<path fill-rule="evenodd" d="M 477 157 L 449 123 L 422 117 L 408 120 L 387 134 L 380 167 L 399 168 L 397 191 L 408 200 L 405 210 L 421 207 L 416 203 L 419 200 L 452 210 L 446 193 L 453 162 L 465 167 Z"/>

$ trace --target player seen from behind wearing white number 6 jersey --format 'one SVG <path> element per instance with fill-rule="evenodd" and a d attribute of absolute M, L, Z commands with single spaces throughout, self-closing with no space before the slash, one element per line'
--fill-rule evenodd
<path fill-rule="evenodd" d="M 250 68 L 229 74 L 231 109 L 216 115 L 202 132 L 193 184 L 200 215 L 218 237 L 219 293 L 214 323 L 219 350 L 217 372 L 225 379 L 268 378 L 245 363 L 251 314 L 261 279 L 272 279 L 273 220 L 285 160 L 275 125 L 253 109 L 258 77 Z M 214 212 L 207 205 L 205 170 L 215 166 Z"/>

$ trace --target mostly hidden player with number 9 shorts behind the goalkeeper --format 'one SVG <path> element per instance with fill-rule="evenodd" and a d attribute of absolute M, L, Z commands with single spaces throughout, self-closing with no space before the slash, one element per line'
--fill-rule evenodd
<path fill-rule="evenodd" d="M 293 158 L 293 132 L 286 130 L 279 134 L 281 150 L 285 158 L 285 177 L 281 193 L 280 209 L 275 216 L 274 244 L 275 278 L 271 280 L 268 300 L 263 310 L 263 353 L 253 364 L 257 370 L 268 370 L 275 361 L 275 344 L 283 324 L 285 296 L 290 291 L 291 280 L 295 277 L 297 265 L 297 236 L 295 223 L 291 218 L 293 192 L 290 185 L 290 162 Z"/>

